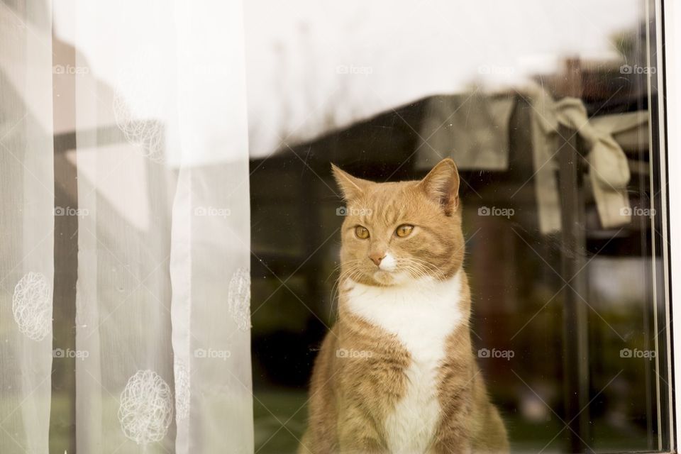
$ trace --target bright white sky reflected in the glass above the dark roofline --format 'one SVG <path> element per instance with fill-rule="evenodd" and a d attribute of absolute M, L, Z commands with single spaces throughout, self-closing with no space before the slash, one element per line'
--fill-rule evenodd
<path fill-rule="evenodd" d="M 612 60 L 609 36 L 636 26 L 644 3 L 244 0 L 250 154 L 267 155 L 280 148 L 282 138 L 308 140 L 474 82 L 488 89 L 522 84 L 530 74 L 556 70 L 567 56 Z M 155 28 L 172 27 L 168 5 L 177 9 L 182 1 L 122 4 L 101 2 L 92 13 L 96 23 L 80 25 L 81 31 L 92 28 L 87 35 L 96 35 L 99 43 L 89 49 L 80 40 L 79 50 L 94 75 L 112 85 L 118 77 L 112 62 L 126 59 L 121 51 L 143 48 Z M 139 32 L 145 27 L 150 33 Z M 74 43 L 73 18 L 60 9 L 55 30 Z M 111 52 L 101 52 L 107 46 Z M 232 63 L 235 74 L 242 74 L 243 62 Z M 234 109 L 243 109 L 243 103 L 234 103 Z"/>

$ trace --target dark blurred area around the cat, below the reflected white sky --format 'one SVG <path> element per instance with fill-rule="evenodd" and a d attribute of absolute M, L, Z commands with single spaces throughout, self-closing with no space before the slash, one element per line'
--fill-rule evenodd
<path fill-rule="evenodd" d="M 514 450 L 665 449 L 658 442 L 668 430 L 660 420 L 668 403 L 658 399 L 665 365 L 621 353 L 665 354 L 655 331 L 664 314 L 654 299 L 662 282 L 662 226 L 660 216 L 646 211 L 662 209 L 653 164 L 660 157 L 659 125 L 647 115 L 657 100 L 648 91 L 649 74 L 622 70 L 646 65 L 648 33 L 654 30 L 641 23 L 613 35 L 619 61 L 565 57 L 558 72 L 533 77 L 553 99 L 580 98 L 592 120 L 644 118 L 614 135 L 629 162 L 630 205 L 638 209 L 621 226 L 602 227 L 587 177 L 593 171 L 585 160 L 588 145 L 578 131 L 563 128 L 551 164 L 562 228 L 541 231 L 532 137 L 533 116 L 541 113 L 534 92 L 524 89 L 427 96 L 314 140 L 284 141 L 277 153 L 251 160 L 260 452 L 294 449 L 304 430 L 311 367 L 336 316 L 343 202 L 331 162 L 383 182 L 419 179 L 445 156 L 475 157 L 460 165 L 472 339 L 476 352 L 513 352 L 509 360 L 478 362 Z M 488 148 L 494 162 L 485 162 Z M 499 210 L 506 215 L 495 216 Z"/>

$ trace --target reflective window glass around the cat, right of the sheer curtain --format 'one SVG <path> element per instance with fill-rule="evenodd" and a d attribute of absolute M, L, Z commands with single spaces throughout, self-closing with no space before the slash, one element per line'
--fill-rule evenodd
<path fill-rule="evenodd" d="M 245 5 L 257 452 L 296 452 L 338 321 L 331 163 L 383 183 L 445 157 L 471 355 L 511 451 L 668 450 L 654 2 L 262 9 Z"/>

